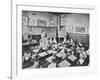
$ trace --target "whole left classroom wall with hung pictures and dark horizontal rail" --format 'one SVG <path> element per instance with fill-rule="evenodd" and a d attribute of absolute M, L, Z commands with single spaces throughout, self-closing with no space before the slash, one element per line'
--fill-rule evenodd
<path fill-rule="evenodd" d="M 57 27 L 57 15 L 47 12 L 23 11 L 22 16 L 26 19 L 26 21 L 23 22 L 25 24 L 22 24 L 23 34 L 29 34 L 31 32 L 31 34 L 33 35 L 40 35 L 44 30 L 45 32 L 47 32 L 48 37 L 56 37 L 55 27 Z M 39 24 L 39 20 L 45 21 L 46 25 Z M 53 21 L 53 25 L 51 25 L 51 21 Z M 44 29 L 44 27 L 48 27 L 49 31 L 47 30 L 47 28 Z M 53 27 L 54 30 L 52 29 Z M 50 32 L 52 35 L 50 35 L 50 33 L 48 32 Z"/>

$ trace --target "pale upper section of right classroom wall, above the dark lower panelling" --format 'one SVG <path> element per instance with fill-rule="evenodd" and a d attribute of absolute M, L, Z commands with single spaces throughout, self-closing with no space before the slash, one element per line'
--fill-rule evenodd
<path fill-rule="evenodd" d="M 70 33 L 89 34 L 89 15 L 88 14 L 66 14 L 65 16 L 66 31 Z M 84 28 L 85 31 L 76 30 Z"/>

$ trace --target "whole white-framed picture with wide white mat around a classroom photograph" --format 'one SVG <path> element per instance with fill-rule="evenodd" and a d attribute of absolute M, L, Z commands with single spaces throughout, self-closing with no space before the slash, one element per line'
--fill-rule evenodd
<path fill-rule="evenodd" d="M 12 7 L 12 80 L 96 71 L 95 7 L 23 1 Z M 28 18 L 34 25 L 26 25 Z"/>

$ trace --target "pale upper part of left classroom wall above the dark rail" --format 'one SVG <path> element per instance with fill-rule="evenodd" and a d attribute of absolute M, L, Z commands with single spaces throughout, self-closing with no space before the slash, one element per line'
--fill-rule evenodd
<path fill-rule="evenodd" d="M 51 20 L 54 21 L 54 27 L 57 26 L 57 16 L 47 12 L 35 12 L 35 11 L 23 11 L 23 16 L 29 18 L 28 26 L 38 26 L 37 20 L 45 20 L 47 22 L 46 26 L 51 27 Z"/>

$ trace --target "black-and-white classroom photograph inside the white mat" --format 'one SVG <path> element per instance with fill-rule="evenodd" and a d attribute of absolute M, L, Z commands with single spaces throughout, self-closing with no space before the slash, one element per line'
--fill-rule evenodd
<path fill-rule="evenodd" d="M 89 14 L 22 10 L 22 69 L 89 66 Z"/>

